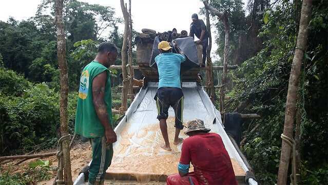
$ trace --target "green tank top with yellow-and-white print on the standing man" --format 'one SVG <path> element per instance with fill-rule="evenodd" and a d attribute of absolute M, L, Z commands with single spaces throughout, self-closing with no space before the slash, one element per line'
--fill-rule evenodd
<path fill-rule="evenodd" d="M 75 115 L 75 133 L 86 138 L 101 137 L 105 134 L 105 128 L 101 124 L 95 112 L 92 99 L 92 81 L 100 73 L 107 71 L 105 87 L 105 104 L 107 106 L 108 120 L 111 119 L 111 93 L 110 71 L 97 61 L 90 62 L 84 67 L 80 78 L 79 98 Z"/>

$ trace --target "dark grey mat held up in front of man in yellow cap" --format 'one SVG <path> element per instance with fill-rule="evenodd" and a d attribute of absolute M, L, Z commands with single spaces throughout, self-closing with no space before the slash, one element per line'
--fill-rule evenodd
<path fill-rule="evenodd" d="M 193 67 L 199 66 L 198 57 L 197 57 L 197 48 L 196 48 L 196 44 L 194 42 L 194 38 L 192 38 L 192 37 L 178 38 L 173 41 L 177 41 L 179 48 L 186 56 L 186 61 L 181 64 L 181 70 L 180 70 L 181 73 L 184 73 L 185 71 L 187 71 Z M 155 41 L 152 46 L 151 59 L 149 61 L 149 66 L 154 67 L 156 69 L 157 69 L 157 65 L 155 62 L 155 57 L 158 54 L 160 54 L 160 52 L 158 50 L 158 44 L 160 42 L 161 42 L 160 38 L 157 36 L 155 38 Z M 173 45 L 173 44 L 171 43 L 171 45 Z M 177 51 L 174 49 L 174 47 L 172 49 L 172 52 L 177 53 Z"/>

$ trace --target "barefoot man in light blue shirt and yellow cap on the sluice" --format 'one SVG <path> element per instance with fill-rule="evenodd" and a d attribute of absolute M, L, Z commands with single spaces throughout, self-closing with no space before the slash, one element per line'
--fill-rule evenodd
<path fill-rule="evenodd" d="M 174 42 L 177 51 L 180 54 L 172 53 L 172 47 L 166 41 L 158 44 L 160 54 L 155 58 L 159 73 L 159 84 L 155 96 L 158 116 L 160 121 L 161 132 L 165 145 L 161 146 L 164 150 L 171 151 L 168 141 L 166 119 L 168 117 L 168 108 L 172 106 L 175 111 L 175 139 L 173 144 L 182 143 L 183 139 L 179 138 L 180 131 L 183 129 L 182 112 L 183 112 L 183 93 L 180 82 L 180 66 L 186 60 L 184 54 L 179 49 L 177 42 Z"/>

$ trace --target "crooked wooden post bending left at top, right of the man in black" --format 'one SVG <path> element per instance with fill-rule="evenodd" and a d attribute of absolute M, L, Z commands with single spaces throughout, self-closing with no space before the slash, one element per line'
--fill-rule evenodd
<path fill-rule="evenodd" d="M 226 74 L 227 74 L 227 66 L 228 66 L 228 53 L 229 53 L 229 33 L 230 26 L 228 23 L 228 13 L 227 12 L 219 12 L 213 6 L 209 5 L 207 1 L 203 1 L 205 8 L 209 10 L 211 13 L 217 15 L 224 25 L 225 37 L 224 37 L 224 54 L 223 54 L 223 74 L 222 74 L 222 88 L 220 95 L 220 111 L 224 112 L 224 96 L 225 96 L 225 85 L 226 85 Z"/>

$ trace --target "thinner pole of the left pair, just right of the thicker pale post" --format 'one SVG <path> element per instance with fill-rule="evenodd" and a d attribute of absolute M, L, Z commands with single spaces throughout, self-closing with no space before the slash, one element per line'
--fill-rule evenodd
<path fill-rule="evenodd" d="M 131 0 L 129 0 L 129 49 L 128 49 L 128 62 L 129 62 L 129 98 L 131 102 L 133 101 L 133 87 L 132 87 L 132 80 L 133 80 L 133 69 L 132 69 L 132 19 L 131 19 Z"/>

